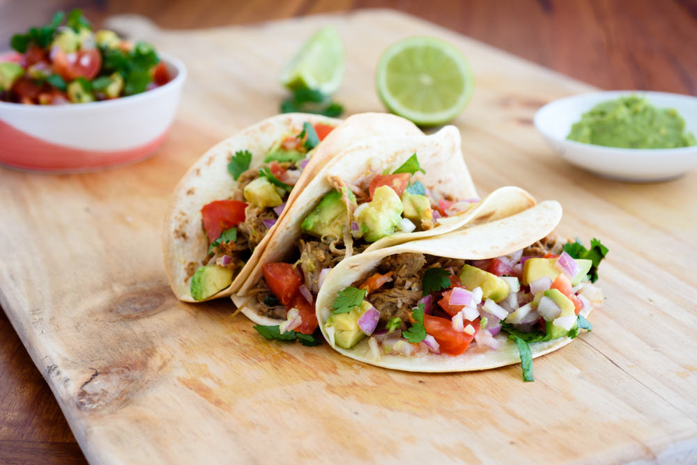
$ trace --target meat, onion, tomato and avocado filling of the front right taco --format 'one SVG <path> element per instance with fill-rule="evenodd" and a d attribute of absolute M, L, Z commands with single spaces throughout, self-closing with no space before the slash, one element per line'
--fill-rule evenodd
<path fill-rule="evenodd" d="M 503 331 L 520 350 L 523 378 L 533 381 L 529 344 L 592 329 L 585 317 L 603 303 L 593 283 L 607 251 L 597 239 L 589 250 L 552 233 L 491 260 L 389 255 L 365 282 L 337 293 L 323 328 L 332 346 L 345 349 L 368 337 L 376 361 L 457 356 L 473 341 L 496 351 Z"/>

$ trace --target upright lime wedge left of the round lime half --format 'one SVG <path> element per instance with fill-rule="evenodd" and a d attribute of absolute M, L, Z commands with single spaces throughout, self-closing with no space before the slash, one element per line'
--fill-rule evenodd
<path fill-rule="evenodd" d="M 278 79 L 293 91 L 319 90 L 325 95 L 332 95 L 342 84 L 345 69 L 346 54 L 342 38 L 334 27 L 324 26 L 284 63 Z"/>

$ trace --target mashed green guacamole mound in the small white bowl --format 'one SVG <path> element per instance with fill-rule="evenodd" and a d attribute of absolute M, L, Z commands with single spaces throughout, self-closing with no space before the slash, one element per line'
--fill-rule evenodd
<path fill-rule="evenodd" d="M 674 109 L 659 109 L 641 97 L 597 104 L 571 128 L 567 139 L 620 148 L 676 148 L 697 145 Z"/>

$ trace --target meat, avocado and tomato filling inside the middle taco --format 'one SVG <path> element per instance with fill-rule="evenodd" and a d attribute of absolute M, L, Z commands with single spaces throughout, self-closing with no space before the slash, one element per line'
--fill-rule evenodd
<path fill-rule="evenodd" d="M 302 220 L 295 262 L 262 265 L 263 278 L 250 294 L 261 315 L 285 320 L 274 330 L 275 338 L 284 338 L 286 331 L 311 334 L 317 329 L 316 296 L 339 262 L 383 237 L 438 228 L 438 219 L 467 212 L 479 202 L 452 198 L 413 179 L 415 173 L 425 173 L 417 154 L 391 173 L 375 161 L 375 174 L 360 186 L 329 176 L 334 190 Z M 268 337 L 270 326 L 255 327 Z"/>

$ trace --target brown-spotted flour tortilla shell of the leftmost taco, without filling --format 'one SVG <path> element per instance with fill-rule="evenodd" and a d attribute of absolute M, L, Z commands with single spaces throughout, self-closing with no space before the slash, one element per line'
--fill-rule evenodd
<path fill-rule="evenodd" d="M 169 283 L 178 299 L 194 302 L 190 294 L 190 279 L 194 271 L 205 264 L 208 256 L 208 236 L 201 226 L 201 208 L 214 200 L 229 198 L 231 192 L 237 187 L 237 182 L 227 171 L 231 155 L 238 150 L 249 150 L 252 152 L 250 168 L 260 167 L 271 145 L 284 134 L 299 134 L 306 121 L 337 127 L 317 147 L 286 200 L 286 205 L 292 204 L 314 174 L 321 170 L 332 157 L 355 141 L 376 134 L 423 134 L 418 127 L 404 118 L 385 113 L 354 115 L 347 118 L 343 124 L 342 120 L 334 118 L 288 113 L 247 127 L 242 132 L 215 145 L 187 171 L 177 184 L 164 219 L 162 232 L 164 264 Z M 275 227 L 268 231 L 231 285 L 209 299 L 228 297 L 239 290 L 266 249 L 266 244 L 273 235 Z"/>

